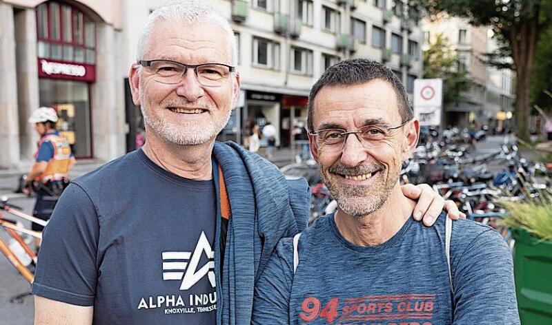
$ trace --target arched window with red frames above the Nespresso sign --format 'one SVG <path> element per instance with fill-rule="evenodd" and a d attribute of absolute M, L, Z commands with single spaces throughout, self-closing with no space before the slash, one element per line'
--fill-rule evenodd
<path fill-rule="evenodd" d="M 37 7 L 38 56 L 96 63 L 96 24 L 77 8 L 49 1 Z"/>

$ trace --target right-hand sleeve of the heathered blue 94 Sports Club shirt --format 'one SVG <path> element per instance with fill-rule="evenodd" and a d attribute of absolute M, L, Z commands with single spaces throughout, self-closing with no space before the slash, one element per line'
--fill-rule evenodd
<path fill-rule="evenodd" d="M 512 254 L 496 231 L 477 235 L 453 262 L 453 286 L 453 324 L 520 324 Z"/>

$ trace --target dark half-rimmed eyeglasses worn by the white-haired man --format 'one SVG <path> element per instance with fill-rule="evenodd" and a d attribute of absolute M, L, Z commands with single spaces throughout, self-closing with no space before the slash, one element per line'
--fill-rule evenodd
<path fill-rule="evenodd" d="M 206 87 L 218 87 L 228 79 L 235 67 L 223 63 L 184 64 L 170 60 L 139 60 L 138 64 L 155 73 L 155 81 L 175 85 L 182 81 L 188 68 L 192 68 L 197 81 Z"/>

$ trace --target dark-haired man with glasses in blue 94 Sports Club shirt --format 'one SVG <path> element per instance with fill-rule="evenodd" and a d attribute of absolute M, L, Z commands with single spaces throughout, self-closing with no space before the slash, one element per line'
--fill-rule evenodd
<path fill-rule="evenodd" d="M 311 90 L 308 129 L 339 209 L 279 242 L 255 286 L 253 324 L 520 324 L 496 231 L 413 222 L 399 176 L 420 123 L 393 71 L 367 59 L 329 67 Z"/>

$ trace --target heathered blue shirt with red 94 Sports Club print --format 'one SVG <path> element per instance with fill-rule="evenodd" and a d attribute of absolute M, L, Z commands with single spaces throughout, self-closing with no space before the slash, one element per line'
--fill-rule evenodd
<path fill-rule="evenodd" d="M 253 324 L 520 324 L 512 255 L 493 229 L 453 222 L 451 264 L 442 214 L 433 227 L 409 218 L 390 240 L 359 247 L 333 214 L 281 240 L 255 289 Z"/>

